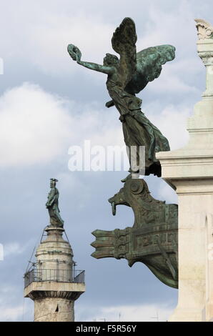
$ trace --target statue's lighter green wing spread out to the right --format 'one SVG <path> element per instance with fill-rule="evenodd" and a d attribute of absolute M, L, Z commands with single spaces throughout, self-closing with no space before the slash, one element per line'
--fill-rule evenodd
<path fill-rule="evenodd" d="M 137 53 L 137 71 L 132 76 L 125 90 L 129 94 L 137 94 L 149 81 L 153 81 L 162 71 L 162 64 L 172 61 L 175 57 L 175 48 L 169 44 L 151 46 Z"/>

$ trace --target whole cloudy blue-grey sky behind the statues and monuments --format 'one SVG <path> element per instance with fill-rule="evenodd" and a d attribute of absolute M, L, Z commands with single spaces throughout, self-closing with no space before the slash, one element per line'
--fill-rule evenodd
<path fill-rule="evenodd" d="M 0 0 L 0 320 L 32 321 L 34 305 L 23 299 L 23 275 L 34 246 L 49 224 L 45 208 L 49 178 L 59 179 L 61 217 L 86 293 L 76 302 L 77 321 L 159 321 L 177 305 L 177 290 L 159 282 L 143 264 L 95 260 L 94 229 L 133 224 L 131 209 L 117 216 L 107 202 L 126 172 L 70 172 L 69 147 L 123 145 L 119 115 L 106 109 L 106 75 L 69 57 L 69 43 L 82 59 L 102 63 L 114 29 L 125 16 L 137 26 L 137 50 L 159 44 L 176 47 L 159 79 L 139 94 L 142 110 L 177 149 L 187 143 L 187 117 L 205 89 L 197 56 L 195 18 L 213 24 L 212 1 L 204 0 Z M 1 62 L 0 62 L 1 63 Z M 147 177 L 152 195 L 177 202 L 157 177 Z"/>

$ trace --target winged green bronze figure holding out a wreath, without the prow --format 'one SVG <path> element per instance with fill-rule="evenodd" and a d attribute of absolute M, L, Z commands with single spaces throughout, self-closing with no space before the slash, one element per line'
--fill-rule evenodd
<path fill-rule="evenodd" d="M 69 44 L 68 52 L 74 61 L 88 69 L 107 74 L 106 87 L 111 101 L 106 107 L 113 105 L 119 111 L 122 122 L 124 142 L 127 154 L 131 148 L 137 148 L 135 162 L 132 164 L 129 156 L 129 172 L 139 174 L 144 167 L 144 174 L 161 176 L 161 165 L 155 157 L 156 152 L 169 151 L 169 142 L 142 112 L 142 99 L 135 94 L 147 86 L 149 81 L 156 79 L 162 71 L 162 64 L 172 61 L 175 48 L 170 45 L 152 46 L 137 53 L 137 34 L 134 21 L 125 18 L 112 36 L 112 47 L 119 54 L 106 54 L 104 63 L 96 64 L 81 61 L 81 51 Z M 140 147 L 145 147 L 145 162 L 141 162 Z M 123 180 L 123 182 L 126 179 Z"/>

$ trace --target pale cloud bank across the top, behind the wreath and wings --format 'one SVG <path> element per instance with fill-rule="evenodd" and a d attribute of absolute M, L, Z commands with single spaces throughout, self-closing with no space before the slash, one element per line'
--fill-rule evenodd
<path fill-rule="evenodd" d="M 175 9 L 164 10 L 166 1 L 135 1 L 135 10 L 132 4 L 122 7 L 121 1 L 99 6 L 96 1 L 81 1 L 80 4 L 71 5 L 70 1 L 36 1 L 29 5 L 29 1 L 21 0 L 19 4 L 5 6 L 4 16 L 0 29 L 1 43 L 5 56 L 17 62 L 36 65 L 46 74 L 55 76 L 81 76 L 80 66 L 69 58 L 66 46 L 76 44 L 82 51 L 82 59 L 102 63 L 106 52 L 114 52 L 111 46 L 112 34 L 122 18 L 131 15 L 136 19 L 139 39 L 138 50 L 159 44 L 174 44 L 177 46 L 177 59 L 185 62 L 184 70 L 192 67 L 194 46 L 197 40 L 194 24 L 194 7 L 189 1 L 178 1 Z M 127 1 L 126 1 L 127 2 Z M 21 5 L 20 5 L 21 3 Z M 113 19 L 110 14 L 114 9 Z M 21 11 L 24 8 L 25 11 Z M 140 16 L 137 8 L 143 8 Z M 118 14 L 119 9 L 120 14 Z M 33 12 L 33 17 L 31 16 Z M 134 18 L 136 16 L 136 18 Z M 138 17 L 139 16 L 139 17 Z M 138 17 L 138 19 L 137 19 Z M 17 34 L 19 26 L 19 34 Z M 8 36 L 5 39 L 5 31 Z M 21 47 L 20 47 L 21 46 Z M 21 65 L 19 64 L 19 65 Z M 174 65 L 175 68 L 175 65 Z M 172 70 L 173 71 L 173 70 Z M 199 71 L 199 66 L 194 66 L 194 72 Z M 89 76 L 100 75 L 95 71 L 88 71 Z M 177 77 L 180 75 L 175 74 Z M 184 84 L 174 79 L 179 88 L 184 89 Z M 171 81 L 170 81 L 171 83 Z M 172 86 L 169 85 L 169 89 Z"/>

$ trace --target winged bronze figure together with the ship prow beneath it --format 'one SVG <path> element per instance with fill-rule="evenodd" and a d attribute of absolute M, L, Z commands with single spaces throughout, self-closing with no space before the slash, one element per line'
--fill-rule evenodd
<path fill-rule="evenodd" d="M 88 69 L 107 75 L 106 87 L 111 101 L 106 107 L 115 106 L 122 122 L 124 142 L 134 174 L 124 179 L 124 187 L 109 202 L 112 212 L 116 206 L 124 204 L 132 207 L 134 225 L 126 229 L 102 231 L 96 229 L 96 237 L 91 246 L 96 251 L 93 257 L 125 258 L 129 266 L 143 262 L 149 269 L 170 287 L 178 287 L 177 263 L 177 204 L 165 204 L 154 199 L 144 179 L 137 177 L 140 168 L 144 174 L 161 176 L 161 165 L 156 152 L 169 151 L 169 142 L 142 112 L 142 100 L 135 94 L 156 79 L 162 71 L 162 64 L 172 61 L 175 48 L 170 45 L 153 46 L 137 53 L 137 34 L 134 21 L 125 18 L 112 36 L 112 47 L 119 58 L 106 54 L 103 65 L 81 61 L 81 51 L 69 44 L 68 51 L 74 61 Z M 135 164 L 131 162 L 131 147 L 137 148 Z M 145 157 L 140 157 L 139 147 L 145 146 Z M 144 162 L 140 162 L 140 160 Z M 138 168 L 139 167 L 139 168 Z M 143 174 L 142 173 L 142 174 Z"/>

